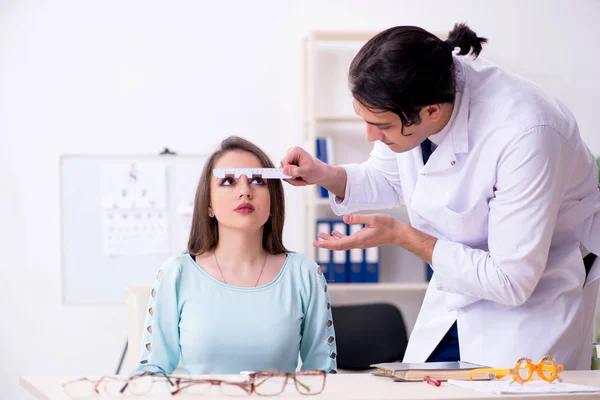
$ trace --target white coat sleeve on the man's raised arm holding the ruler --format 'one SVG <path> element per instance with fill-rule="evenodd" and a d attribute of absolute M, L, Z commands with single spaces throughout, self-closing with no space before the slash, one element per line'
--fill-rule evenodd
<path fill-rule="evenodd" d="M 404 203 L 396 153 L 377 141 L 362 164 L 342 165 L 346 170 L 344 199 L 329 193 L 329 204 L 336 215 L 360 210 L 382 210 Z"/>

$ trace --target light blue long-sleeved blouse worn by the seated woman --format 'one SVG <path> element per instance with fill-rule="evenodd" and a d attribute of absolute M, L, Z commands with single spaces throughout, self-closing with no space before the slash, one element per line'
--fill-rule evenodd
<path fill-rule="evenodd" d="M 189 254 L 158 271 L 146 312 L 138 372 L 179 363 L 192 374 L 337 371 L 327 282 L 320 268 L 288 253 L 277 277 L 257 288 L 224 284 Z"/>

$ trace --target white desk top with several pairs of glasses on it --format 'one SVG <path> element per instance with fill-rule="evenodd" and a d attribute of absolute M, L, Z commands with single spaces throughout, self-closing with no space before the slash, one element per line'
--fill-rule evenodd
<path fill-rule="evenodd" d="M 580 385 L 600 387 L 600 371 L 569 371 L 561 374 L 565 382 Z M 239 378 L 239 375 L 236 376 Z M 50 377 L 50 376 L 25 376 L 21 377 L 21 386 L 31 392 L 40 400 L 72 400 L 62 390 L 61 383 L 73 379 L 72 377 Z M 551 398 L 558 399 L 600 399 L 600 393 L 575 393 L 575 394 L 555 394 L 555 395 L 494 395 L 479 393 L 468 389 L 462 389 L 452 386 L 446 382 L 441 387 L 435 387 L 423 382 L 398 383 L 389 378 L 373 376 L 370 374 L 337 374 L 327 377 L 325 390 L 319 396 L 302 396 L 293 386 L 290 386 L 282 395 L 276 398 L 294 398 L 309 400 L 321 399 L 497 399 L 506 397 L 511 400 L 521 400 L 529 398 Z M 90 397 L 90 399 L 108 399 L 107 394 Z M 140 399 L 140 396 L 122 396 L 127 399 Z M 153 392 L 144 396 L 150 399 L 232 399 L 221 395 L 217 387 L 213 387 L 209 393 L 203 396 L 177 395 L 172 397 L 169 394 L 157 395 Z M 252 395 L 248 399 L 267 399 Z"/>

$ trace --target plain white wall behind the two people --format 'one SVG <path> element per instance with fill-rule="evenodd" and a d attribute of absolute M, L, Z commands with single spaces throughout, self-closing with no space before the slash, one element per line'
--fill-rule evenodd
<path fill-rule="evenodd" d="M 19 375 L 112 373 L 125 340 L 123 307 L 61 305 L 60 154 L 197 153 L 239 134 L 279 160 L 301 139 L 310 30 L 458 21 L 560 97 L 599 154 L 599 16 L 597 0 L 0 1 L 1 397 L 31 398 Z M 289 247 L 301 227 L 290 213 Z"/>

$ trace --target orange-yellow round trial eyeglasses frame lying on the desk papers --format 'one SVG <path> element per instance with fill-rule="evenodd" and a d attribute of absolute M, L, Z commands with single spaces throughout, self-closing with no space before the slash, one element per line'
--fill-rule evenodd
<path fill-rule="evenodd" d="M 525 377 L 521 375 L 521 371 L 523 370 L 526 370 L 527 372 Z M 564 370 L 564 366 L 557 365 L 552 357 L 549 356 L 542 357 L 537 364 L 534 364 L 529 358 L 521 357 L 517 360 L 517 362 L 515 362 L 515 365 L 512 368 L 477 368 L 471 370 L 469 372 L 469 380 L 472 380 L 473 375 L 478 372 L 488 372 L 494 374 L 496 379 L 502 379 L 505 376 L 510 375 L 513 379 L 513 382 L 523 384 L 527 381 L 530 381 L 533 378 L 533 373 L 535 372 L 546 382 L 553 382 L 555 380 L 562 382 L 562 379 L 560 376 L 558 376 L 558 374 Z M 549 373 L 549 375 L 545 375 L 546 371 Z"/>

